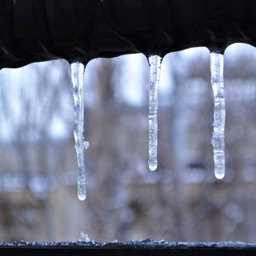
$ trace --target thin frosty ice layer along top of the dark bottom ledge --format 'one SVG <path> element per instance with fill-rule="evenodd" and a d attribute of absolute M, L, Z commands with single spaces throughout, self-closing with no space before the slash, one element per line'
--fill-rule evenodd
<path fill-rule="evenodd" d="M 167 242 L 164 240 L 154 241 L 151 239 L 145 240 L 130 240 L 126 242 L 113 241 L 111 243 L 98 243 L 98 242 L 26 242 L 23 240 L 14 241 L 12 243 L 0 243 L 1 248 L 90 248 L 90 249 L 256 249 L 256 244 L 245 244 L 242 242 L 212 242 L 212 243 L 202 243 L 202 242 Z"/>

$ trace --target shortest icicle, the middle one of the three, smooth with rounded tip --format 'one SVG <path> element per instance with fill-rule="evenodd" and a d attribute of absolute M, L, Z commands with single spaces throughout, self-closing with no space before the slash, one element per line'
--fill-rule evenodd
<path fill-rule="evenodd" d="M 158 87 L 162 58 L 159 55 L 149 56 L 149 170 L 158 167 Z"/>

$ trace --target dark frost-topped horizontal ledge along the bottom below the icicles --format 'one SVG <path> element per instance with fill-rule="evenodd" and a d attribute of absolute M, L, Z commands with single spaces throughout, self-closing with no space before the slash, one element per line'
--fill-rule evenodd
<path fill-rule="evenodd" d="M 0 243 L 2 255 L 249 255 L 255 254 L 256 244 L 220 243 L 180 243 L 153 241 L 150 239 L 116 243 L 61 242 L 28 243 L 17 241 Z"/>

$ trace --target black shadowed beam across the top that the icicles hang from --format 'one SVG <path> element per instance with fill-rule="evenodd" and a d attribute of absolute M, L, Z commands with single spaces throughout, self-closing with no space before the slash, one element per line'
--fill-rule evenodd
<path fill-rule="evenodd" d="M 0 69 L 256 45 L 254 0 L 0 0 Z"/>

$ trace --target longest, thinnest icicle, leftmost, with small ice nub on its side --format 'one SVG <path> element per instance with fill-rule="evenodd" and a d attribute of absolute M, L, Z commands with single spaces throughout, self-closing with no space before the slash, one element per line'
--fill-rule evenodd
<path fill-rule="evenodd" d="M 75 149 L 78 158 L 78 198 L 86 198 L 86 176 L 84 168 L 83 149 L 88 148 L 88 141 L 83 141 L 83 74 L 84 65 L 74 62 L 70 65 L 71 78 L 73 83 L 73 101 L 74 101 L 74 128 L 73 136 L 75 140 Z"/>

